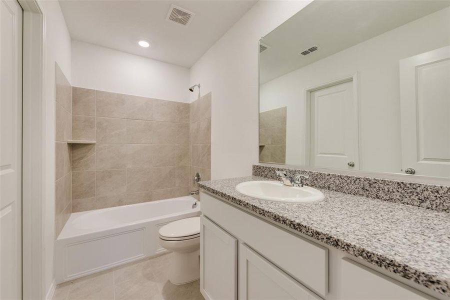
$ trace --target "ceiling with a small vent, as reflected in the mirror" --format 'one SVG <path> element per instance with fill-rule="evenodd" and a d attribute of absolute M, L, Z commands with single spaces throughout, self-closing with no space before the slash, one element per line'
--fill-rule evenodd
<path fill-rule="evenodd" d="M 264 36 L 259 79 L 265 83 L 450 5 L 448 0 L 315 0 Z M 305 56 L 299 52 L 312 46 Z"/>

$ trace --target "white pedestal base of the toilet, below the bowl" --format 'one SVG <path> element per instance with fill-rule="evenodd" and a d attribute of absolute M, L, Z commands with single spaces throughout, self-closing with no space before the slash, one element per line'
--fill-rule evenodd
<path fill-rule="evenodd" d="M 169 281 L 185 284 L 200 278 L 200 250 L 189 253 L 172 252 Z"/>

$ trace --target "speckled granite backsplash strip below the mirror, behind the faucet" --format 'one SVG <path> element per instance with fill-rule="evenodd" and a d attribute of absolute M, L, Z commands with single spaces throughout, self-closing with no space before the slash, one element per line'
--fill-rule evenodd
<path fill-rule="evenodd" d="M 304 184 L 313 187 L 450 212 L 450 186 L 350 176 L 294 168 L 278 168 L 258 164 L 253 164 L 252 174 L 276 179 L 275 172 L 277 170 L 283 170 L 290 176 L 294 176 L 296 173 L 309 175 L 310 177 L 304 180 Z"/>

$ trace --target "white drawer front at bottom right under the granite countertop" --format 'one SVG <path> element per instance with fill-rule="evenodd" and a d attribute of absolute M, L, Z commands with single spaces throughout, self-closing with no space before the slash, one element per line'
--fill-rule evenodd
<path fill-rule="evenodd" d="M 345 300 L 436 300 L 348 258 L 342 259 L 341 275 Z"/>

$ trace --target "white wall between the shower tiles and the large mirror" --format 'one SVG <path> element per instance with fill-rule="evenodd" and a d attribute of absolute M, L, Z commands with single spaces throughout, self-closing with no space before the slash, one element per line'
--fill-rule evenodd
<path fill-rule="evenodd" d="M 258 1 L 191 67 L 190 83 L 201 83 L 201 95 L 212 92 L 212 179 L 251 174 L 258 161 L 258 40 L 309 2 Z"/>

